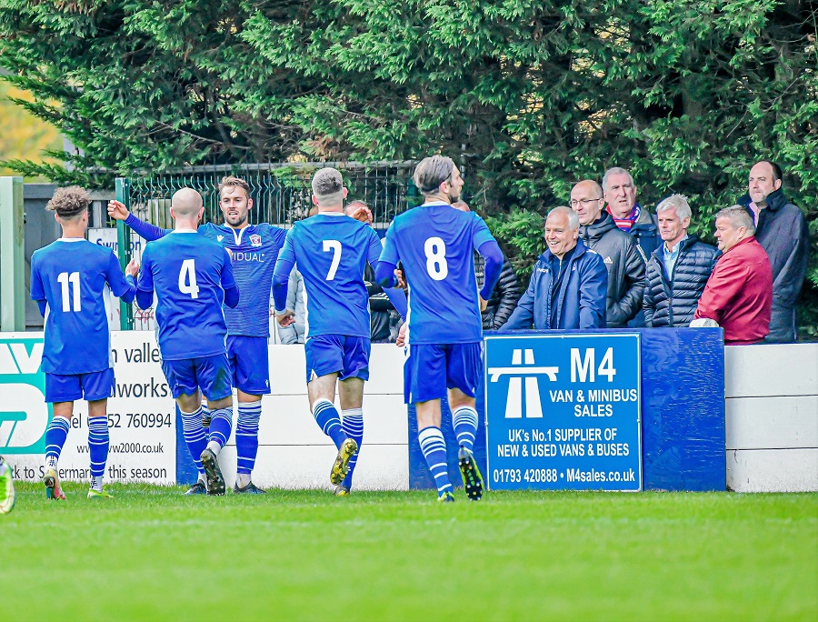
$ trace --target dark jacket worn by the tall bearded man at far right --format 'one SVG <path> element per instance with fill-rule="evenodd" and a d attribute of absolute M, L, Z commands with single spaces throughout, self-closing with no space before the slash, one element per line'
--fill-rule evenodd
<path fill-rule="evenodd" d="M 749 195 L 738 201 L 753 216 L 750 202 Z M 787 200 L 781 188 L 767 196 L 767 206 L 758 216 L 755 239 L 773 265 L 773 316 L 766 340 L 795 341 L 795 301 L 806 276 L 810 241 L 803 212 Z"/>

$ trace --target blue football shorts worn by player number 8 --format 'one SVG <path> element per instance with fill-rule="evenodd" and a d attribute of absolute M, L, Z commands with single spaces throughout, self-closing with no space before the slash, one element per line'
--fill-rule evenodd
<path fill-rule="evenodd" d="M 446 389 L 456 388 L 474 397 L 483 373 L 483 344 L 409 345 L 404 362 L 406 404 L 442 399 Z"/>

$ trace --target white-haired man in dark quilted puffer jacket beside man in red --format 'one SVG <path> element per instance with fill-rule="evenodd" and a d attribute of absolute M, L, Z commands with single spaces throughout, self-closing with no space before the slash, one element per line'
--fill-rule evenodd
<path fill-rule="evenodd" d="M 644 325 L 690 326 L 719 250 L 688 235 L 691 210 L 687 197 L 672 195 L 656 206 L 663 245 L 647 263 L 644 288 Z"/>

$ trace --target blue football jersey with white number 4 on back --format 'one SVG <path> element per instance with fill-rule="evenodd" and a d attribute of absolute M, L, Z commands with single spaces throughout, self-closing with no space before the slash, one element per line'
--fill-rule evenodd
<path fill-rule="evenodd" d="M 159 350 L 167 361 L 226 353 L 224 290 L 235 286 L 224 247 L 194 231 L 149 242 L 137 288 L 156 292 Z"/>

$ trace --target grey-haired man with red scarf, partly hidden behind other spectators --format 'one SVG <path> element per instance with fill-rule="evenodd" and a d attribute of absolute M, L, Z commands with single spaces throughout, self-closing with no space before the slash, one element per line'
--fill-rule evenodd
<path fill-rule="evenodd" d="M 636 186 L 631 174 L 619 166 L 609 168 L 603 176 L 603 190 L 613 222 L 633 237 L 645 256 L 651 256 L 662 244 L 659 227 L 656 217 L 636 202 Z"/>

